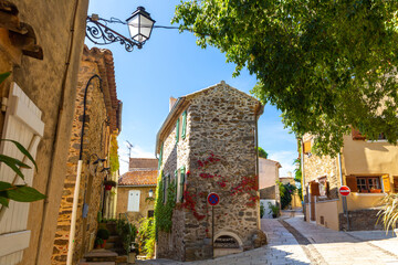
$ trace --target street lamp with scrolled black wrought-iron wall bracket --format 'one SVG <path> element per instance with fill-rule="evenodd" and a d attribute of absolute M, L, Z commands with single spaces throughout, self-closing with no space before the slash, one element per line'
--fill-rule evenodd
<path fill-rule="evenodd" d="M 118 22 L 127 24 L 130 38 L 122 35 L 100 21 L 105 21 L 105 23 Z M 87 17 L 86 22 L 86 36 L 95 44 L 107 45 L 118 42 L 122 45 L 125 45 L 127 52 L 132 52 L 134 46 L 137 46 L 138 49 L 143 47 L 145 42 L 150 38 L 156 21 L 150 18 L 150 14 L 145 11 L 145 8 L 138 7 L 132 17 L 126 20 L 126 23 L 117 19 L 111 21 L 101 19 L 97 14 Z"/>

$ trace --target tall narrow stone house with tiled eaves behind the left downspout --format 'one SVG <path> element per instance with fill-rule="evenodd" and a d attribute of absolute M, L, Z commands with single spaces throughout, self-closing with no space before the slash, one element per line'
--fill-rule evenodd
<path fill-rule="evenodd" d="M 90 84 L 92 76 L 98 75 Z M 88 86 L 87 86 L 88 85 Z M 82 136 L 84 95 L 86 93 L 84 135 Z M 78 199 L 73 264 L 94 247 L 98 212 L 104 213 L 106 197 L 104 179 L 108 179 L 111 135 L 121 131 L 122 104 L 117 99 L 113 55 L 109 50 L 86 46 L 77 77 L 77 94 L 72 136 L 66 162 L 66 179 L 57 214 L 52 264 L 65 264 L 73 201 Z M 81 140 L 83 138 L 83 147 Z M 81 149 L 82 148 L 82 149 Z M 74 198 L 77 161 L 82 152 L 82 173 L 78 198 Z M 106 159 L 105 159 L 106 158 Z M 103 160 L 101 160 L 103 159 Z"/>

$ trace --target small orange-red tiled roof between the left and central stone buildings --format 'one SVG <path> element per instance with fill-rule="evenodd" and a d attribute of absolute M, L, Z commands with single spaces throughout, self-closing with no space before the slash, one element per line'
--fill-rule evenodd
<path fill-rule="evenodd" d="M 156 186 L 157 170 L 128 171 L 119 178 L 119 186 Z"/>

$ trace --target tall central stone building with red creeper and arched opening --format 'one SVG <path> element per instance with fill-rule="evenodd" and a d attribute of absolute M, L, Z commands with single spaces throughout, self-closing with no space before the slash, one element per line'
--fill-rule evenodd
<path fill-rule="evenodd" d="M 264 234 L 260 231 L 256 124 L 263 106 L 224 82 L 170 103 L 156 139 L 161 183 L 157 194 L 163 194 L 156 209 L 168 200 L 176 200 L 176 206 L 170 232 L 158 232 L 157 257 L 195 261 L 260 246 Z M 176 199 L 168 198 L 172 193 L 167 191 L 174 189 Z M 210 192 L 220 197 L 214 231 L 207 203 Z M 167 221 L 155 218 L 157 223 Z"/>

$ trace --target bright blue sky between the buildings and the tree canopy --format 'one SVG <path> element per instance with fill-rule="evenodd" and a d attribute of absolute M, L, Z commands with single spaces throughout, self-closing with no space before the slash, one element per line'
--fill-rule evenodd
<path fill-rule="evenodd" d="M 100 18 L 127 19 L 137 7 L 145 7 L 157 25 L 170 25 L 176 0 L 91 0 L 88 14 Z M 112 29 L 128 36 L 126 25 L 109 24 Z M 94 44 L 86 39 L 85 43 Z M 101 46 L 98 46 L 101 47 Z M 125 141 L 134 145 L 132 157 L 155 157 L 155 139 L 168 114 L 169 97 L 179 97 L 226 81 L 227 84 L 249 93 L 255 85 L 255 76 L 242 71 L 232 77 L 233 64 L 226 63 L 224 54 L 208 46 L 196 45 L 191 33 L 178 30 L 154 29 L 142 50 L 128 53 L 117 43 L 102 46 L 114 55 L 117 96 L 123 100 L 122 132 L 118 137 L 121 173 L 127 171 L 128 152 Z M 280 176 L 293 171 L 297 157 L 294 135 L 283 128 L 281 113 L 266 105 L 259 120 L 259 146 L 269 158 L 282 165 Z"/>

